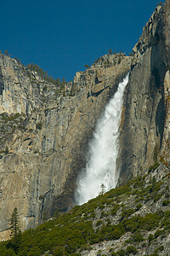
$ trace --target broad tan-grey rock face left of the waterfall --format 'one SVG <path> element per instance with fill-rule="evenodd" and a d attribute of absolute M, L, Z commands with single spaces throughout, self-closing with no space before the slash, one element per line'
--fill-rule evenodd
<path fill-rule="evenodd" d="M 131 60 L 105 55 L 65 85 L 67 96 L 56 96 L 54 84 L 0 55 L 2 239 L 14 207 L 22 230 L 71 207 L 88 139 Z"/>

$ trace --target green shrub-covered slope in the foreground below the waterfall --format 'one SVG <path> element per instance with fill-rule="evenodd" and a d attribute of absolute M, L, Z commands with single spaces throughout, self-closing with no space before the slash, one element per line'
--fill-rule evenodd
<path fill-rule="evenodd" d="M 107 255 L 138 255 L 144 247 L 152 248 L 145 255 L 159 255 L 164 246 L 157 240 L 170 232 L 168 185 L 169 171 L 161 163 L 144 177 L 25 231 L 17 242 L 1 242 L 0 255 L 81 255 L 106 241 L 114 241 Z M 115 247 L 122 237 L 122 246 Z"/>

